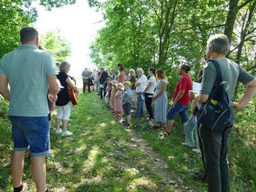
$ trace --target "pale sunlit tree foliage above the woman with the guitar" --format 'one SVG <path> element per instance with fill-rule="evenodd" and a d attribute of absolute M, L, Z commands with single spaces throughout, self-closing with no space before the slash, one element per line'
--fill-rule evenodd
<path fill-rule="evenodd" d="M 58 30 L 41 35 L 41 44 L 50 51 L 56 61 L 62 62 L 71 54 L 71 44 Z"/>

